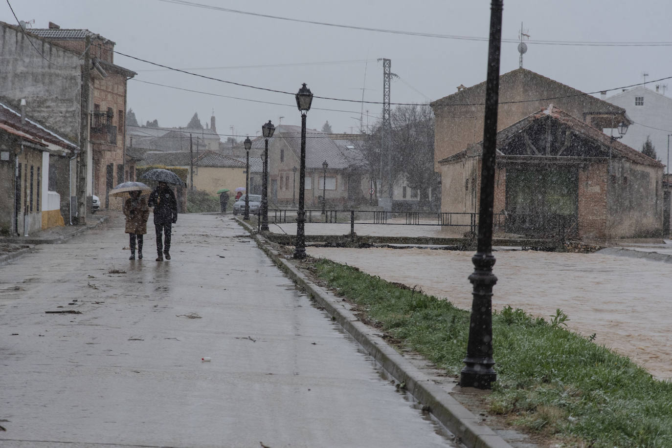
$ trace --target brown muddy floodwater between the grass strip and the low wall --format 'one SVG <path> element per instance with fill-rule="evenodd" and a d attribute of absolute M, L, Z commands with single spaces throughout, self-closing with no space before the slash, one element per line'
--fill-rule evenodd
<path fill-rule="evenodd" d="M 429 249 L 332 249 L 309 255 L 421 287 L 471 307 L 473 252 Z M 549 319 L 564 310 L 569 328 L 614 349 L 661 379 L 672 378 L 672 275 L 669 263 L 612 255 L 495 251 L 493 308 L 510 305 Z"/>

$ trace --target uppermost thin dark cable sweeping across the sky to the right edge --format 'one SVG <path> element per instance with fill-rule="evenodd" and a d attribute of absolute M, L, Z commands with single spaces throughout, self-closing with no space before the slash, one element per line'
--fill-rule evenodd
<path fill-rule="evenodd" d="M 280 15 L 270 15 L 262 13 L 254 13 L 251 11 L 241 11 L 239 9 L 224 8 L 220 6 L 205 5 L 203 3 L 196 3 L 194 1 L 187 0 L 158 0 L 163 1 L 164 3 L 174 3 L 175 5 L 191 6 L 198 7 L 203 9 L 210 9 L 214 11 L 222 11 L 235 14 L 243 15 L 253 15 L 256 17 L 265 17 L 267 19 L 276 19 L 276 20 L 286 20 L 299 22 L 301 24 L 312 24 L 312 25 L 321 25 L 321 26 L 331 26 L 335 28 L 347 28 L 350 30 L 361 30 L 361 31 L 371 31 L 378 33 L 386 34 L 401 34 L 404 36 L 420 36 L 426 38 L 439 38 L 439 39 L 453 39 L 453 40 L 472 40 L 477 42 L 487 42 L 487 37 L 479 36 L 457 36 L 452 34 L 435 34 L 435 33 L 425 33 L 425 32 L 412 32 L 412 31 L 399 31 L 399 30 L 386 30 L 384 28 L 370 28 L 365 26 L 353 26 L 353 25 L 343 25 L 343 24 L 331 24 L 325 21 L 315 21 L 315 20 L 302 20 L 294 19 L 292 17 L 281 17 Z M 519 43 L 517 39 L 502 39 L 502 42 Z M 589 42 L 589 41 L 570 41 L 570 40 L 530 40 L 528 44 L 538 44 L 538 45 L 569 45 L 569 46 L 672 46 L 672 42 Z"/>

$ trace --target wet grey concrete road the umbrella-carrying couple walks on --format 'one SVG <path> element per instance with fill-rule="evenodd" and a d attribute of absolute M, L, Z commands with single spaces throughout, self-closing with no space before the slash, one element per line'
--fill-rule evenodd
<path fill-rule="evenodd" d="M 123 247 L 116 219 L 0 267 L 1 446 L 460 446 L 234 222 Z"/>

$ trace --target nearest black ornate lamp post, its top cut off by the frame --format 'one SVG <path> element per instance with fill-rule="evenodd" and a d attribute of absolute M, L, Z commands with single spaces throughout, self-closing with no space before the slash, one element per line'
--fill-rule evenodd
<path fill-rule="evenodd" d="M 471 261 L 474 285 L 466 366 L 460 372 L 460 386 L 489 389 L 497 379 L 493 369 L 493 274 L 495 257 L 493 243 L 493 204 L 495 197 L 495 149 L 497 147 L 497 103 L 499 102 L 499 52 L 501 48 L 503 0 L 492 0 L 490 13 L 490 44 L 488 75 L 485 87 L 485 124 L 483 155 L 480 170 L 480 202 L 478 208 L 478 249 Z"/>

